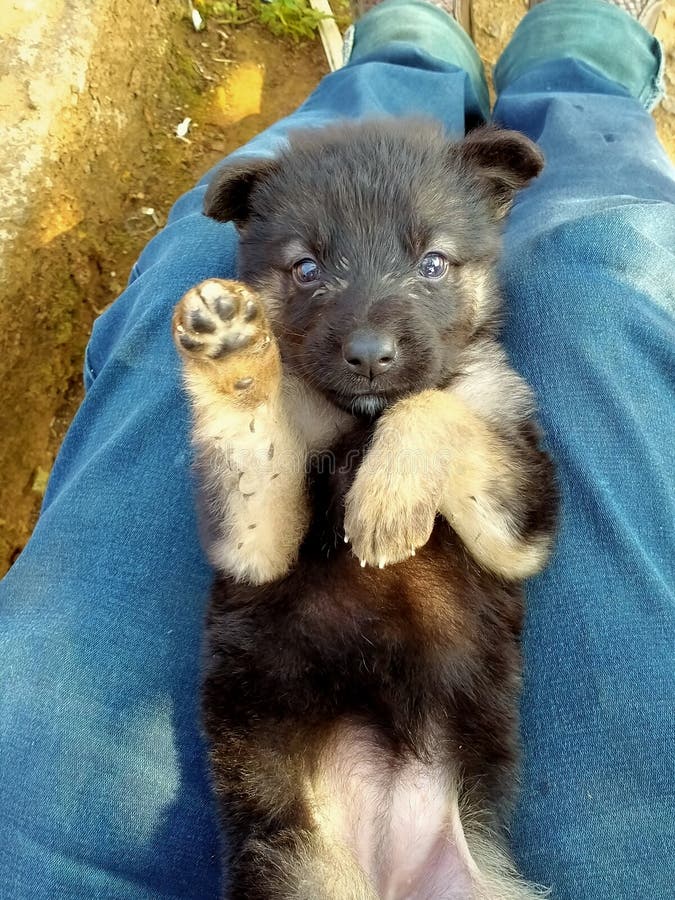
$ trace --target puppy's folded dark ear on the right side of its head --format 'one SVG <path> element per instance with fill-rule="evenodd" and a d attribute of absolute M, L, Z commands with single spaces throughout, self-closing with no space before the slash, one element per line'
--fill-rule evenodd
<path fill-rule="evenodd" d="M 541 151 L 524 134 L 491 125 L 469 132 L 458 149 L 464 162 L 488 183 L 500 218 L 509 211 L 516 191 L 536 178 L 544 165 Z"/>

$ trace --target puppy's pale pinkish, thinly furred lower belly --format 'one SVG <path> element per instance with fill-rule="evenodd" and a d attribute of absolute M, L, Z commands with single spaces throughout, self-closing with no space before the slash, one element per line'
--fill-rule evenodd
<path fill-rule="evenodd" d="M 394 759 L 365 726 L 343 726 L 311 797 L 324 839 L 356 857 L 382 900 L 476 896 L 456 789 L 440 767 Z"/>

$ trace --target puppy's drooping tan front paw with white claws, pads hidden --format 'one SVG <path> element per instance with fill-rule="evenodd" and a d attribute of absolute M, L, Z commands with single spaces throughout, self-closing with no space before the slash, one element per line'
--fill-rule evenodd
<path fill-rule="evenodd" d="M 347 494 L 345 540 L 362 566 L 401 562 L 429 540 L 438 502 L 431 485 L 369 454 Z"/>

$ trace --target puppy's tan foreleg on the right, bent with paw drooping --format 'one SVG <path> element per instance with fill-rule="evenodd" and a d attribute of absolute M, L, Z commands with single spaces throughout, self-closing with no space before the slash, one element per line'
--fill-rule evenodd
<path fill-rule="evenodd" d="M 345 531 L 360 559 L 386 565 L 425 544 L 440 512 L 478 562 L 525 578 L 544 565 L 550 541 L 517 536 L 508 501 L 521 474 L 506 442 L 461 396 L 425 391 L 382 416 L 347 497 Z"/>

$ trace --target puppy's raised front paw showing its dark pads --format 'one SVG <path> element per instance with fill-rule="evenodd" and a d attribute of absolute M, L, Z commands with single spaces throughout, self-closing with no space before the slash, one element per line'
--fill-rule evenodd
<path fill-rule="evenodd" d="M 212 278 L 189 290 L 174 311 L 173 336 L 186 370 L 221 394 L 257 405 L 279 384 L 279 353 L 262 300 L 238 281 Z"/>

